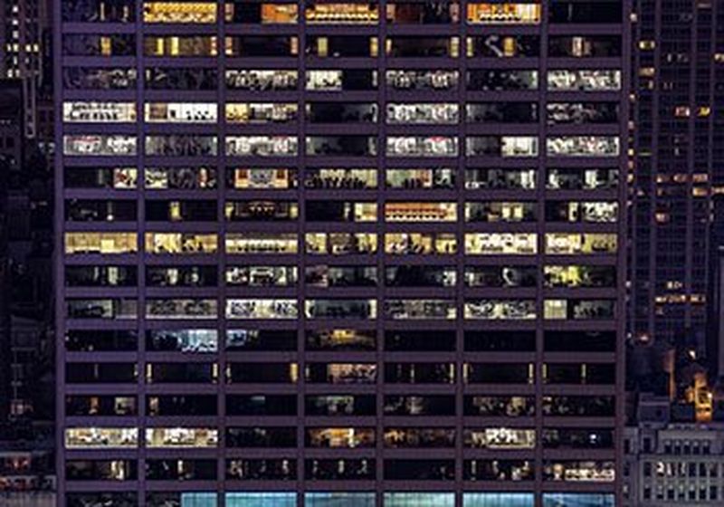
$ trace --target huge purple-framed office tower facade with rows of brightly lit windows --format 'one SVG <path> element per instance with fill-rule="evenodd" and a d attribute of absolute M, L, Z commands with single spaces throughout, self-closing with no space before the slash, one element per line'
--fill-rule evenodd
<path fill-rule="evenodd" d="M 62 506 L 617 504 L 628 5 L 55 8 Z"/>

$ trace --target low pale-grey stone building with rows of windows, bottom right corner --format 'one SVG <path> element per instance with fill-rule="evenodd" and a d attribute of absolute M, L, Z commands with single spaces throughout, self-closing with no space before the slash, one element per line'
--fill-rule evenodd
<path fill-rule="evenodd" d="M 724 502 L 724 424 L 672 422 L 668 398 L 643 398 L 626 428 L 624 507 Z"/>

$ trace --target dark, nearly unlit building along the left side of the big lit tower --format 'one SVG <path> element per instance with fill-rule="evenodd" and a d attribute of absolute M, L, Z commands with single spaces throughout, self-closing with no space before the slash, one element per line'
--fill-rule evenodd
<path fill-rule="evenodd" d="M 32 413 L 52 373 L 52 173 L 24 137 L 22 97 L 0 80 L 0 425 Z"/>

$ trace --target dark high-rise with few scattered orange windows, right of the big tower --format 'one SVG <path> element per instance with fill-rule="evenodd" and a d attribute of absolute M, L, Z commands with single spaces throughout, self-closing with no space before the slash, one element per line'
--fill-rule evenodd
<path fill-rule="evenodd" d="M 706 354 L 712 197 L 724 192 L 724 3 L 633 3 L 629 331 Z"/>

